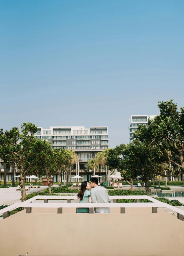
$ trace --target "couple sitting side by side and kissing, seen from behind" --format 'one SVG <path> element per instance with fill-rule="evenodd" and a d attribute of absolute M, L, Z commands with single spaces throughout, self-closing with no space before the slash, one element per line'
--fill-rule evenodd
<path fill-rule="evenodd" d="M 82 182 L 77 195 L 77 203 L 109 203 L 109 195 L 105 188 L 98 186 L 98 179 L 91 178 L 90 184 Z M 89 208 L 77 208 L 77 213 L 89 213 Z M 110 208 L 96 208 L 96 213 L 108 213 Z"/>

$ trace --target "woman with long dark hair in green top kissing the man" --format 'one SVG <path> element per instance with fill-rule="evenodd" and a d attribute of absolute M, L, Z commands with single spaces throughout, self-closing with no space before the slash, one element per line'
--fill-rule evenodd
<path fill-rule="evenodd" d="M 82 182 L 80 191 L 78 192 L 78 195 L 77 195 L 77 203 L 91 203 L 91 191 L 89 191 L 89 189 L 91 189 L 89 182 L 87 181 Z M 76 212 L 89 213 L 89 208 L 77 208 Z"/>

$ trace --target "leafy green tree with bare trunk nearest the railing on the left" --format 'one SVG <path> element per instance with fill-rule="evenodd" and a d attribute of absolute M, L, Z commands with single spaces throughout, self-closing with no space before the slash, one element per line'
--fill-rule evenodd
<path fill-rule="evenodd" d="M 8 162 L 9 160 L 14 160 L 16 163 L 15 167 L 19 167 L 20 169 L 22 202 L 26 200 L 25 176 L 29 174 L 37 155 L 37 142 L 34 136 L 36 132 L 37 127 L 35 124 L 23 122 L 21 125 L 21 133 L 18 127 L 12 128 L 9 132 L 5 131 L 5 133 L 3 133 L 3 129 L 1 129 L 0 133 L 0 154 L 2 159 L 4 158 Z"/>

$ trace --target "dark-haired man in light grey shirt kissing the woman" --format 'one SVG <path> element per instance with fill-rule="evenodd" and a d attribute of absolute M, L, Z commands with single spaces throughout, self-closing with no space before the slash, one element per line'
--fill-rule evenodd
<path fill-rule="evenodd" d="M 91 178 L 91 200 L 92 203 L 109 203 L 109 195 L 105 188 L 98 186 L 98 179 Z M 97 213 L 109 213 L 110 208 L 96 208 Z"/>

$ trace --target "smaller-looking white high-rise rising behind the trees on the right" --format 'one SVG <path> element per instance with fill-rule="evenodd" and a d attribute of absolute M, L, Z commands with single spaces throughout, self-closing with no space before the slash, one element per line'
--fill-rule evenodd
<path fill-rule="evenodd" d="M 154 119 L 155 116 L 149 116 L 151 120 Z M 132 141 L 132 136 L 138 128 L 138 125 L 146 125 L 148 126 L 148 116 L 147 115 L 139 115 L 139 116 L 131 116 L 129 119 L 129 143 Z"/>

